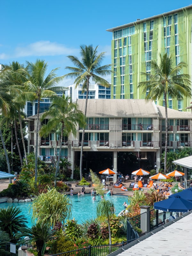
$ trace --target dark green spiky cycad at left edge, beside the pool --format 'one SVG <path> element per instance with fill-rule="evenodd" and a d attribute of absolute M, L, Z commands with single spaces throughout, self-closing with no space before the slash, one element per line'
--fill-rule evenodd
<path fill-rule="evenodd" d="M 0 208 L 0 228 L 9 234 L 10 239 L 13 239 L 20 228 L 27 227 L 27 219 L 20 213 L 21 210 L 17 207 Z"/>

